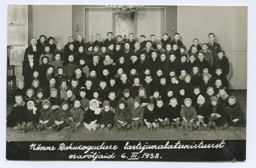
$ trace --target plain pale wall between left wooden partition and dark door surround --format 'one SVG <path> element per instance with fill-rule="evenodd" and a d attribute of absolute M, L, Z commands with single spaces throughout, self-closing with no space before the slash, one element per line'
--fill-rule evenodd
<path fill-rule="evenodd" d="M 63 46 L 72 36 L 72 5 L 32 5 L 33 37 L 45 34 L 63 37 Z"/>

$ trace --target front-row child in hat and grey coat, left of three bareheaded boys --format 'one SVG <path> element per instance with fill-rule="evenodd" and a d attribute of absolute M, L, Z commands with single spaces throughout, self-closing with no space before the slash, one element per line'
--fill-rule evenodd
<path fill-rule="evenodd" d="M 135 98 L 133 100 L 133 106 L 129 109 L 131 113 L 131 126 L 133 131 L 137 131 L 139 129 L 140 125 L 143 125 L 143 113 L 144 113 L 144 108 L 140 106 L 140 99 Z"/>

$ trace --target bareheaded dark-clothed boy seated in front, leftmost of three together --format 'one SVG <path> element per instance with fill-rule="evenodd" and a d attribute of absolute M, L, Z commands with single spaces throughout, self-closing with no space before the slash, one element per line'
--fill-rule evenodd
<path fill-rule="evenodd" d="M 156 115 L 154 113 L 154 103 L 148 102 L 147 109 L 144 111 L 144 122 L 150 131 L 153 131 L 153 127 L 159 131 L 159 124 L 156 123 Z"/>

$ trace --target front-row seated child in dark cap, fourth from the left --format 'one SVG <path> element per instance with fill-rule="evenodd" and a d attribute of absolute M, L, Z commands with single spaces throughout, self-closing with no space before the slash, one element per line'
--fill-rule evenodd
<path fill-rule="evenodd" d="M 63 101 L 61 104 L 61 108 L 57 109 L 55 113 L 53 113 L 52 132 L 60 131 L 64 127 L 68 127 L 69 124 L 67 123 L 67 121 L 69 117 L 69 103 Z"/>

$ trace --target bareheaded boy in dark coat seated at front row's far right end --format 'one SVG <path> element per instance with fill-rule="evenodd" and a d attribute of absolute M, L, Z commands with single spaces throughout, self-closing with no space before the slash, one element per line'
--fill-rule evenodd
<path fill-rule="evenodd" d="M 224 129 L 228 126 L 242 126 L 246 127 L 246 120 L 243 120 L 243 113 L 241 107 L 236 103 L 234 96 L 230 96 L 228 102 L 225 103 L 225 119 Z"/>

